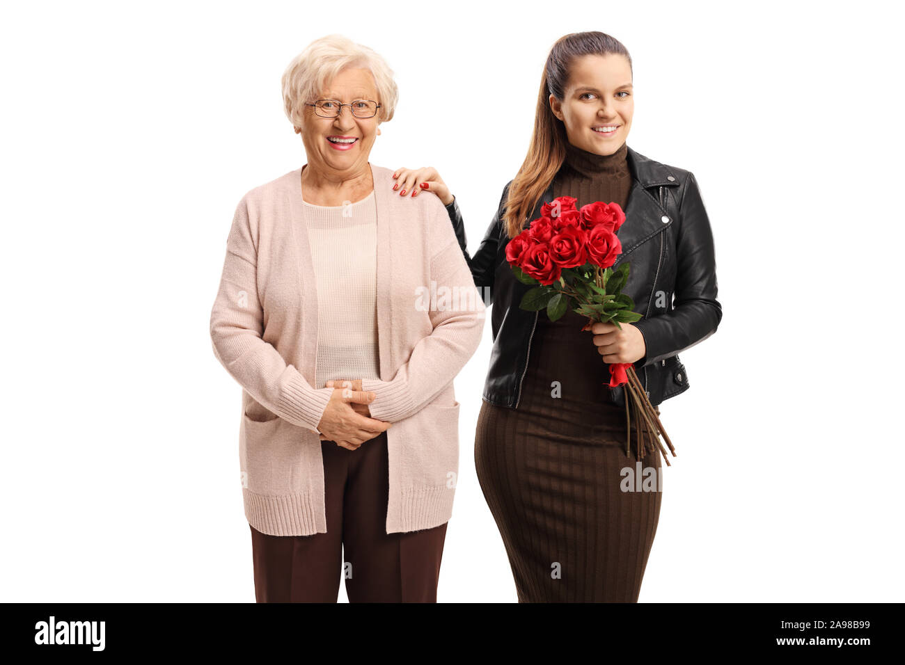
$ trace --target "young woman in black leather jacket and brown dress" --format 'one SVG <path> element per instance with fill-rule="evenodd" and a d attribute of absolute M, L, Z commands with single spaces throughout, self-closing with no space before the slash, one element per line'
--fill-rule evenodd
<path fill-rule="evenodd" d="M 519 602 L 637 602 L 660 517 L 662 469 L 659 455 L 645 457 L 658 482 L 623 490 L 626 475 L 641 470 L 625 454 L 625 397 L 608 387 L 608 364 L 633 363 L 656 407 L 688 389 L 678 354 L 710 337 L 722 317 L 695 177 L 626 144 L 632 82 L 632 60 L 613 37 L 557 41 L 528 157 L 473 256 L 458 205 L 435 171 L 395 174 L 405 189 L 422 187 L 448 203 L 475 284 L 495 304 L 475 462 Z M 571 309 L 556 322 L 519 309 L 530 287 L 514 278 L 506 244 L 561 195 L 576 197 L 578 207 L 623 207 L 617 235 L 631 265 L 624 292 L 643 314 L 637 323 L 621 330 L 598 323 L 588 332 L 587 319 Z"/>

